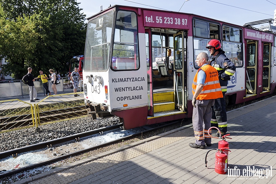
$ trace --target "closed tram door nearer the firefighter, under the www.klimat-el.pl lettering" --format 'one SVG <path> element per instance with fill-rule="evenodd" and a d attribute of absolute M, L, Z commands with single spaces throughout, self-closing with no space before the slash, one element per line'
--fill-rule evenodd
<path fill-rule="evenodd" d="M 247 41 L 246 48 L 246 89 L 247 94 L 256 94 L 258 70 L 258 42 Z"/>

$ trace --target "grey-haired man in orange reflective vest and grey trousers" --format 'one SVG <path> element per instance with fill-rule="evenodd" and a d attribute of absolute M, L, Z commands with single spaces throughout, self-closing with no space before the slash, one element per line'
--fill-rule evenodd
<path fill-rule="evenodd" d="M 193 88 L 193 128 L 195 143 L 192 148 L 205 148 L 211 146 L 211 137 L 208 129 L 211 127 L 212 106 L 215 99 L 222 98 L 217 70 L 208 64 L 208 54 L 201 52 L 197 55 L 196 63 L 200 67 L 194 76 Z"/>

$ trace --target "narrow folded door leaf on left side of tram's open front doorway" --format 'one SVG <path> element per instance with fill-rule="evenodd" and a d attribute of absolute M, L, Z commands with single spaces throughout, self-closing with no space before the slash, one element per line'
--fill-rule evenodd
<path fill-rule="evenodd" d="M 148 116 L 153 116 L 151 29 L 145 29 L 145 39 L 146 39 L 147 78 L 148 78 Z"/>

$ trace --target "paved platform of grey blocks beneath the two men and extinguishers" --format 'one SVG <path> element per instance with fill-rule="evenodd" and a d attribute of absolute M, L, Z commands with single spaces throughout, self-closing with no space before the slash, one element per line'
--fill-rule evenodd
<path fill-rule="evenodd" d="M 232 151 L 228 173 L 214 171 L 218 139 L 205 149 L 190 148 L 191 125 L 165 132 L 54 170 L 23 183 L 276 183 L 276 97 L 228 112 Z M 231 171 L 231 172 L 229 172 Z M 254 171 L 254 172 L 252 172 Z"/>

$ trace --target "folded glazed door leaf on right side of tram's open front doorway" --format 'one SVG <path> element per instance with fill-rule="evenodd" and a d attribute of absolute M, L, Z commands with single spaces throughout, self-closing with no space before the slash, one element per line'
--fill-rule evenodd
<path fill-rule="evenodd" d="M 175 108 L 186 109 L 186 32 L 174 35 L 174 102 Z"/>

